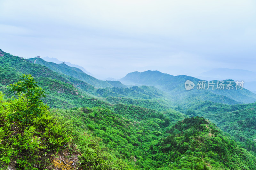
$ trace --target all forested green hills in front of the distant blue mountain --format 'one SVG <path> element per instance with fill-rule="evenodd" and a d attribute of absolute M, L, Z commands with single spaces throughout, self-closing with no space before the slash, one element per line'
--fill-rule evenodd
<path fill-rule="evenodd" d="M 0 53 L 1 169 L 256 169 L 255 103 Z"/>

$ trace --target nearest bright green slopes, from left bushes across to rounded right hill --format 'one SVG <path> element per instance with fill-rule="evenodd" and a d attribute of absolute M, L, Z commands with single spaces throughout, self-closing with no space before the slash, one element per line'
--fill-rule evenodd
<path fill-rule="evenodd" d="M 25 101 L 22 96 L 6 101 L 0 94 L 0 166 L 4 169 L 36 170 L 40 165 L 68 170 L 249 170 L 256 166 L 256 157 L 202 117 L 184 119 L 175 111 L 163 114 L 126 105 L 115 106 L 114 112 L 100 107 L 48 112 L 41 104 L 40 115 L 30 117 L 25 128 L 20 118 L 9 119 L 13 111 L 23 113 Z"/>

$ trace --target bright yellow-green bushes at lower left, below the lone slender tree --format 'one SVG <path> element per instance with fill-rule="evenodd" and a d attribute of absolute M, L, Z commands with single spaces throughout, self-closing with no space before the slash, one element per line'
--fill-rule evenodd
<path fill-rule="evenodd" d="M 17 104 L 17 101 L 20 104 Z M 23 102 L 23 103 L 22 103 Z M 37 169 L 39 164 L 46 166 L 50 162 L 47 154 L 63 149 L 70 137 L 48 112 L 48 107 L 40 105 L 40 115 L 30 117 L 30 126 L 9 119 L 17 110 L 26 111 L 26 101 L 8 100 L 0 93 L 0 168 L 15 161 L 17 169 Z"/>

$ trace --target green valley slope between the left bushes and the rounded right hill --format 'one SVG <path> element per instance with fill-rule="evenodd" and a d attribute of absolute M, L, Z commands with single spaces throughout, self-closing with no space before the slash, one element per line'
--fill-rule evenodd
<path fill-rule="evenodd" d="M 74 122 L 77 127 L 83 127 L 83 130 L 87 131 L 88 134 L 91 133 L 92 136 L 101 138 L 100 145 L 107 147 L 115 157 L 124 159 L 129 165 L 137 168 L 142 168 L 147 164 L 147 153 L 142 154 L 142 152 L 150 146 L 151 141 L 166 135 L 167 129 L 165 126 L 168 122 L 170 124 L 171 120 L 175 122 L 182 119 L 179 113 L 175 111 L 161 114 L 150 109 L 134 106 L 126 108 L 125 105 L 119 105 L 115 108 L 115 112 L 100 107 L 84 107 L 76 110 L 53 109 L 52 112 L 61 114 L 67 120 Z M 140 122 L 135 121 L 134 117 L 125 118 L 140 112 L 145 113 L 143 117 L 138 119 Z M 167 116 L 169 119 L 166 119 Z M 78 147 L 83 148 L 81 144 Z M 135 160 L 140 158 L 140 161 L 134 161 L 134 158 Z"/>

